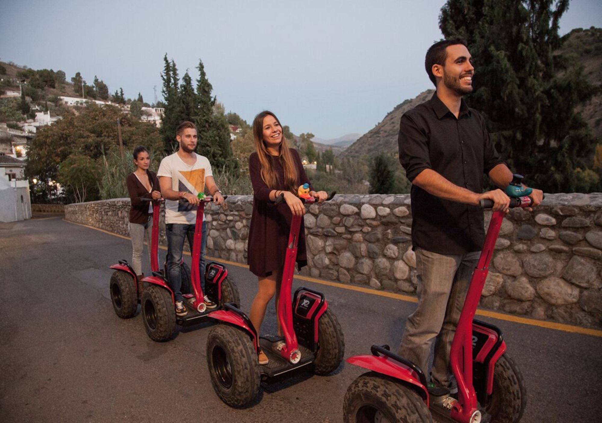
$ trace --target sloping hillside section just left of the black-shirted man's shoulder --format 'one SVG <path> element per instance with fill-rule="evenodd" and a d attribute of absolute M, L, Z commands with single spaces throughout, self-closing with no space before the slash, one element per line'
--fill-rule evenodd
<path fill-rule="evenodd" d="M 373 156 L 380 152 L 397 153 L 399 120 L 405 112 L 430 99 L 433 93 L 435 90 L 426 90 L 415 99 L 406 100 L 397 105 L 379 124 L 347 147 L 341 153 L 341 157 Z"/>

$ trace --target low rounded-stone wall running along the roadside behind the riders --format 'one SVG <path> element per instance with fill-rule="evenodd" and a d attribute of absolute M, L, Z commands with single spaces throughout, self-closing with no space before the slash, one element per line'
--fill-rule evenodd
<path fill-rule="evenodd" d="M 413 294 L 409 195 L 338 195 L 305 215 L 303 275 Z M 66 219 L 128 234 L 129 199 L 70 204 Z M 209 205 L 207 254 L 246 263 L 251 196 Z M 491 212 L 485 212 L 488 225 Z M 162 225 L 161 239 L 164 243 Z M 504 218 L 484 308 L 602 327 L 602 194 L 551 194 L 533 212 Z"/>

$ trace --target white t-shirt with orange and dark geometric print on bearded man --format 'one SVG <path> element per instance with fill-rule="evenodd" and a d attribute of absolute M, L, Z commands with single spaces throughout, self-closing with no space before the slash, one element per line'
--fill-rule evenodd
<path fill-rule="evenodd" d="M 194 165 L 184 163 L 173 153 L 161 160 L 159 165 L 158 177 L 167 176 L 172 178 L 172 189 L 174 191 L 190 192 L 197 195 L 205 190 L 205 178 L 213 176 L 211 172 L 211 163 L 205 156 L 193 153 L 196 156 Z M 165 200 L 165 222 L 166 224 L 184 224 L 190 225 L 196 222 L 196 205 L 191 205 L 186 201 Z M 205 216 L 203 216 L 205 221 Z"/>

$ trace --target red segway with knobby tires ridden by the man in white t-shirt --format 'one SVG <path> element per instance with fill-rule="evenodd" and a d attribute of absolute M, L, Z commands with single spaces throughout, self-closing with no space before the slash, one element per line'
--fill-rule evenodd
<path fill-rule="evenodd" d="M 224 196 L 224 199 L 227 196 Z M 205 202 L 212 201 L 211 196 L 203 196 L 196 212 L 196 226 L 192 251 L 191 285 L 193 293 L 184 294 L 188 314 L 177 316 L 172 288 L 169 287 L 165 272 L 152 272 L 152 276 L 144 278 L 144 290 L 141 296 L 141 308 L 144 329 L 153 341 L 167 341 L 176 330 L 176 323 L 181 326 L 197 324 L 209 315 L 203 296 L 209 297 L 219 307 L 226 303 L 236 306 L 240 304 L 240 295 L 236 285 L 228 279 L 228 270 L 223 264 L 212 261 L 205 266 L 205 293 L 200 286 L 199 261 L 202 243 L 203 213 Z M 153 227 L 153 231 L 155 227 Z M 158 230 L 157 230 L 158 231 Z M 158 235 L 157 235 L 158 236 Z M 157 257 L 157 245 L 153 245 L 153 257 Z M 184 292 L 184 280 L 182 280 Z"/>

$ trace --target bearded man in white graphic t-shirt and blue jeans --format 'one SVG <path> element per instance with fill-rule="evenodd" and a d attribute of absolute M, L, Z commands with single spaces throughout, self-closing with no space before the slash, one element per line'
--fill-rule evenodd
<path fill-rule="evenodd" d="M 205 186 L 213 201 L 222 204 L 222 193 L 213 179 L 211 163 L 205 156 L 194 153 L 197 144 L 196 126 L 192 122 L 182 122 L 176 129 L 179 150 L 161 160 L 157 176 L 161 195 L 165 198 L 165 227 L 167 237 L 167 279 L 173 290 L 176 314 L 185 316 L 188 311 L 182 297 L 182 275 L 180 261 L 184 249 L 184 239 L 188 239 L 192 251 L 196 210 L 199 204 L 197 194 L 205 191 Z M 183 201 L 185 200 L 185 201 Z M 205 246 L 207 231 L 203 216 L 202 248 L 200 251 L 200 283 L 205 279 Z M 204 288 L 204 287 L 203 287 Z M 205 295 L 207 308 L 216 308 L 216 303 Z"/>

